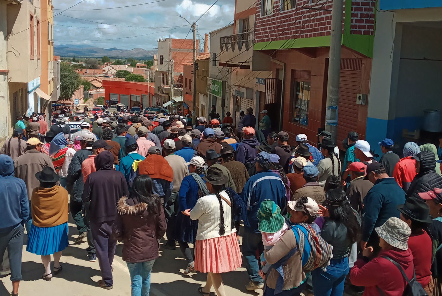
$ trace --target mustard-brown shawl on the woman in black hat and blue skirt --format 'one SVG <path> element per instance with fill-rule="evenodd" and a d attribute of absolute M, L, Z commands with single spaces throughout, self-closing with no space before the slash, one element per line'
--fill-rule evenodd
<path fill-rule="evenodd" d="M 68 192 L 61 186 L 37 187 L 32 192 L 32 224 L 53 227 L 68 222 Z"/>

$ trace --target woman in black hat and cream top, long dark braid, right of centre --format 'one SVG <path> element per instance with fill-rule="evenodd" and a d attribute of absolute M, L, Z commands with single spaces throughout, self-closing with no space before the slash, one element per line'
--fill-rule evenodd
<path fill-rule="evenodd" d="M 323 187 L 329 176 L 335 175 L 339 178 L 340 175 L 341 162 L 334 152 L 335 147 L 336 144 L 331 139 L 325 138 L 322 140 L 321 153 L 324 159 L 320 160 L 316 167 L 319 171 L 318 182 Z"/>

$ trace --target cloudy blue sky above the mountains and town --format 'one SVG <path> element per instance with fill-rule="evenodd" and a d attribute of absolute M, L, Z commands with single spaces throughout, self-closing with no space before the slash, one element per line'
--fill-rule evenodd
<path fill-rule="evenodd" d="M 215 0 L 156 1 L 84 0 L 65 12 L 62 11 L 80 0 L 53 1 L 54 15 L 62 12 L 54 16 L 54 45 L 88 44 L 103 48 L 153 50 L 157 38 L 168 38 L 170 34 L 172 38 L 185 38 L 191 28 L 185 19 L 189 23 L 198 20 Z M 143 4 L 148 2 L 155 3 Z M 95 10 L 136 4 L 143 5 Z M 204 36 L 204 33 L 232 23 L 234 13 L 235 0 L 218 0 L 198 21 L 198 33 Z M 126 38 L 130 36 L 139 37 Z M 192 38 L 192 32 L 187 38 Z"/>

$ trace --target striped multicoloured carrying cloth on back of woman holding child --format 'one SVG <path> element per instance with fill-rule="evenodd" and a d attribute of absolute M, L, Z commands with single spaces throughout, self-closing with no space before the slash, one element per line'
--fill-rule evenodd
<path fill-rule="evenodd" d="M 309 224 L 292 224 L 291 227 L 301 253 L 302 268 L 312 271 L 321 267 L 325 271 L 333 257 L 333 246 L 317 235 Z"/>

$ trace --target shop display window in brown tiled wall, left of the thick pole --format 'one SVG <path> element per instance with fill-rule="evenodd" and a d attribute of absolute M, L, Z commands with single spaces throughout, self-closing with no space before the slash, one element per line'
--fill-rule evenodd
<path fill-rule="evenodd" d="M 293 83 L 292 121 L 301 125 L 309 124 L 310 82 L 295 81 Z"/>

